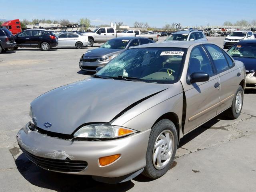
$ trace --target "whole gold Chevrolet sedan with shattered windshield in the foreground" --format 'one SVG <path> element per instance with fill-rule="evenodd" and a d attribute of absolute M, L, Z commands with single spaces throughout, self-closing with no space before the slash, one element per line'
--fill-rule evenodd
<path fill-rule="evenodd" d="M 242 62 L 209 42 L 136 46 L 36 98 L 16 138 L 46 170 L 107 183 L 156 179 L 184 135 L 222 112 L 238 118 L 245 75 Z"/>

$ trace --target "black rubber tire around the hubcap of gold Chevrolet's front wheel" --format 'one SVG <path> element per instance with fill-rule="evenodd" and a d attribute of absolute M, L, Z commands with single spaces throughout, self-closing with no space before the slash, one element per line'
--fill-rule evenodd
<path fill-rule="evenodd" d="M 156 150 L 154 150 L 154 147 L 155 147 L 157 140 L 160 139 L 158 137 L 160 135 L 162 135 L 162 132 L 164 132 L 164 133 L 169 132 L 170 136 L 172 136 L 172 150 L 170 152 L 170 158 L 168 158 L 168 160 L 166 160 L 168 162 L 165 162 L 164 160 L 162 162 L 162 157 L 161 157 L 161 164 L 164 164 L 164 163 L 166 163 L 166 164 L 162 168 L 161 167 L 157 168 L 156 163 L 158 162 L 158 160 L 156 158 L 156 161 L 153 162 L 154 161 L 153 158 L 154 158 L 154 154 L 157 153 L 158 147 L 156 148 Z M 160 142 L 161 139 L 158 141 Z M 148 149 L 147 149 L 147 153 L 146 153 L 146 167 L 144 168 L 144 171 L 142 172 L 142 174 L 144 176 L 152 178 L 152 179 L 157 179 L 157 178 L 163 176 L 169 170 L 170 166 L 172 165 L 172 162 L 174 160 L 176 150 L 177 150 L 177 144 L 178 144 L 178 135 L 177 135 L 177 130 L 176 130 L 174 123 L 168 119 L 163 119 L 163 120 L 160 120 L 159 122 L 157 122 L 152 127 L 152 130 L 150 132 L 150 136 L 149 136 L 149 140 L 148 140 Z M 168 146 L 167 146 L 167 149 L 165 147 L 163 148 L 163 146 L 166 146 L 165 142 L 160 144 L 161 148 L 158 152 L 159 156 L 165 155 L 166 150 L 168 150 Z M 164 152 L 164 153 L 162 154 L 162 152 Z M 166 155 L 168 155 L 168 152 Z"/>

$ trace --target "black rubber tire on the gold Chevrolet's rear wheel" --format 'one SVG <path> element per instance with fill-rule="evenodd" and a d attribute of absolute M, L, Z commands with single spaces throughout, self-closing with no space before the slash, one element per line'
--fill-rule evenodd
<path fill-rule="evenodd" d="M 237 103 L 241 103 L 241 107 L 240 107 L 239 111 L 237 111 L 238 108 L 236 108 L 236 100 L 237 100 L 237 96 L 239 93 L 241 94 L 242 98 L 237 101 Z M 230 119 L 238 118 L 242 111 L 243 103 L 244 103 L 244 90 L 243 90 L 242 86 L 239 85 L 238 89 L 236 91 L 236 94 L 234 95 L 234 98 L 232 101 L 232 106 L 225 111 L 226 116 L 228 116 L 228 118 L 230 118 Z"/>

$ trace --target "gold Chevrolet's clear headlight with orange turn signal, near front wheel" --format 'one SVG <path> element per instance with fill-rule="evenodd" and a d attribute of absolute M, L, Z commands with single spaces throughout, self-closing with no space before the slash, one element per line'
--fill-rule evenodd
<path fill-rule="evenodd" d="M 74 134 L 74 137 L 111 139 L 126 136 L 136 132 L 136 130 L 110 124 L 91 124 L 80 128 Z"/>

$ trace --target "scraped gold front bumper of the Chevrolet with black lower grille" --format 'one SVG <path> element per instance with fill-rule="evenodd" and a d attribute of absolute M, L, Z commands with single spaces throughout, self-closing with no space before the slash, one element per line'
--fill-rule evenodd
<path fill-rule="evenodd" d="M 115 140 L 70 141 L 27 130 L 26 126 L 16 136 L 18 144 L 32 162 L 46 170 L 92 175 L 96 180 L 104 180 L 130 176 L 146 166 L 150 129 Z M 121 156 L 111 164 L 100 166 L 100 157 L 114 154 Z"/>

